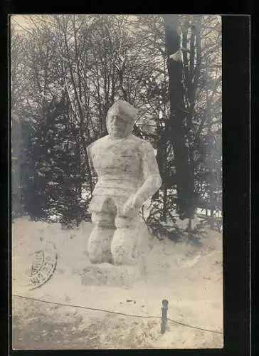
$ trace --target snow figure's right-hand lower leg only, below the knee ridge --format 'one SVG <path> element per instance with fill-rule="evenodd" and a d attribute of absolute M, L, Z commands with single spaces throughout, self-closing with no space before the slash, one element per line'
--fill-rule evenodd
<path fill-rule="evenodd" d="M 133 261 L 134 246 L 136 244 L 136 231 L 129 227 L 115 230 L 112 239 L 112 261 L 115 264 L 128 264 Z"/>

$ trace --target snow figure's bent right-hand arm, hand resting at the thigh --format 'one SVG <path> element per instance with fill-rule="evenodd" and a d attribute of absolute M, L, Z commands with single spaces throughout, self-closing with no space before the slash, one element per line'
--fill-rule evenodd
<path fill-rule="evenodd" d="M 149 142 L 145 142 L 142 148 L 142 172 L 144 183 L 137 193 L 127 200 L 124 206 L 125 214 L 139 209 L 162 185 L 157 159 Z"/>

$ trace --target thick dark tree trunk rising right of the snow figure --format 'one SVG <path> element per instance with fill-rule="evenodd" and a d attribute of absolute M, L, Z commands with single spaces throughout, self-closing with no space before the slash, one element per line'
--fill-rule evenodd
<path fill-rule="evenodd" d="M 184 110 L 183 66 L 181 60 L 170 58 L 170 55 L 179 51 L 181 43 L 177 32 L 176 16 L 165 15 L 164 23 L 171 107 L 169 137 L 174 150 L 178 212 L 181 219 L 192 219 L 194 216 L 194 189 L 191 182 L 189 147 L 187 145 L 186 126 L 184 125 L 186 112 Z"/>

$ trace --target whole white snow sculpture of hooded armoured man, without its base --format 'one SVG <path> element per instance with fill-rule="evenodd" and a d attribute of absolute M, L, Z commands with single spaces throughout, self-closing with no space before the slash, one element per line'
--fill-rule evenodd
<path fill-rule="evenodd" d="M 92 263 L 127 264 L 134 258 L 139 209 L 161 187 L 154 150 L 132 135 L 137 110 L 118 100 L 107 112 L 108 134 L 88 146 L 97 184 L 90 203 L 95 227 L 88 243 Z"/>

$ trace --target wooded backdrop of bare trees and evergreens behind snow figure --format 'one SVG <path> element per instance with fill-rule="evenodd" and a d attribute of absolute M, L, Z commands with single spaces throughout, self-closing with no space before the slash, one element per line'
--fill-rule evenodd
<path fill-rule="evenodd" d="M 197 207 L 221 209 L 220 16 L 26 21 L 11 16 L 11 112 L 22 152 L 19 164 L 12 160 L 14 214 L 56 216 L 63 226 L 90 219 L 96 177 L 86 147 L 107 134 L 107 110 L 119 98 L 137 108 L 134 135 L 157 155 L 163 184 L 143 213 L 153 231 L 170 233 L 177 216 L 191 221 Z"/>

